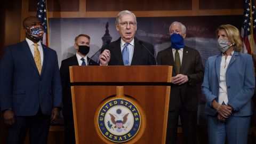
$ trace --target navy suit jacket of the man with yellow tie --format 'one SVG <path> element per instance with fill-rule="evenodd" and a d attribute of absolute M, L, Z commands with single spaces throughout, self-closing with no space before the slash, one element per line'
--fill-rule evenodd
<path fill-rule="evenodd" d="M 57 53 L 42 44 L 44 61 L 39 75 L 27 41 L 5 47 L 0 62 L 1 110 L 12 108 L 15 116 L 33 116 L 41 107 L 51 115 L 61 107 L 61 81 Z"/>

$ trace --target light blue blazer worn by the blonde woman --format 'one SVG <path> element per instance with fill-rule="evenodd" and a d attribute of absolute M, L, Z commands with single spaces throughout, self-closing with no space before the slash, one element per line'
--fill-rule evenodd
<path fill-rule="evenodd" d="M 210 57 L 205 64 L 202 93 L 206 99 L 205 113 L 214 116 L 217 112 L 211 107 L 218 101 L 221 56 Z M 234 108 L 233 116 L 252 115 L 251 98 L 255 88 L 252 57 L 249 54 L 234 52 L 226 72 L 228 105 Z"/>

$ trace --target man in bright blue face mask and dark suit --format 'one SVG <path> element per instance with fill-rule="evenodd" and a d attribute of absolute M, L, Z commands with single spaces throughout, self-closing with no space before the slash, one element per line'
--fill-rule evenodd
<path fill-rule="evenodd" d="M 204 67 L 197 50 L 184 46 L 186 27 L 173 22 L 169 28 L 172 45 L 158 52 L 158 65 L 173 66 L 166 143 L 176 143 L 181 119 L 185 143 L 197 143 L 197 84 L 203 81 Z"/>

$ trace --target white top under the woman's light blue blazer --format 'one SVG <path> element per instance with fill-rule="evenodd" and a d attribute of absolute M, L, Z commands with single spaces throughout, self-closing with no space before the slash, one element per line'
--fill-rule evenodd
<path fill-rule="evenodd" d="M 225 59 L 225 54 L 222 54 L 220 62 L 220 86 L 219 86 L 219 99 L 218 103 L 221 105 L 223 102 L 228 105 L 228 93 L 227 93 L 227 84 L 226 84 L 226 71 L 233 55 L 234 51 L 231 52 L 231 55 L 228 55 Z"/>

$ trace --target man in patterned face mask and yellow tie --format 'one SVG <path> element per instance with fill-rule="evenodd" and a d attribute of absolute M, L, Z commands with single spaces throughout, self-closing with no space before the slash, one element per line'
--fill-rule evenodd
<path fill-rule="evenodd" d="M 0 62 L 0 102 L 8 125 L 7 143 L 47 143 L 50 123 L 61 107 L 57 53 L 43 45 L 43 26 L 36 17 L 23 21 L 26 40 L 5 47 Z"/>

